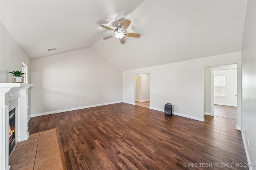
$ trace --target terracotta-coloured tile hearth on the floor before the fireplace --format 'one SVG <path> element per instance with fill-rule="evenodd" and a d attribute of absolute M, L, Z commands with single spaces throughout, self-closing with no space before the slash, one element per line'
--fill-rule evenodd
<path fill-rule="evenodd" d="M 12 153 L 10 170 L 63 170 L 56 129 L 29 135 Z"/>

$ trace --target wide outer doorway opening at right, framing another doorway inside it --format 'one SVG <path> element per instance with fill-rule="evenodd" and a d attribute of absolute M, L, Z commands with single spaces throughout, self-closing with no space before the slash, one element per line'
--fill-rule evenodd
<path fill-rule="evenodd" d="M 231 73 L 232 72 L 232 73 Z M 218 78 L 225 76 L 225 89 L 223 87 L 215 90 L 219 96 L 214 95 L 214 73 Z M 227 79 L 228 78 L 228 79 Z M 230 79 L 231 82 L 230 82 Z M 228 82 L 227 82 L 228 81 Z M 227 84 L 228 83 L 228 84 Z M 216 84 L 215 86 L 223 86 Z M 237 64 L 204 67 L 204 115 L 225 117 L 236 120 L 236 129 L 240 130 L 241 124 L 241 74 Z M 228 90 L 228 91 L 227 91 Z M 229 92 L 232 91 L 232 92 Z M 216 99 L 218 98 L 218 99 Z M 228 99 L 229 102 L 225 101 Z M 220 115 L 220 112 L 222 115 Z M 230 116 L 228 115 L 230 114 Z"/>

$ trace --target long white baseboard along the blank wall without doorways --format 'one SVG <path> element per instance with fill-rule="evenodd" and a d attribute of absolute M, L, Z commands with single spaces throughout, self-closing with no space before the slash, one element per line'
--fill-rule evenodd
<path fill-rule="evenodd" d="M 122 103 L 122 101 L 110 102 L 110 103 L 104 103 L 104 104 L 96 104 L 96 105 L 91 105 L 91 106 L 76 107 L 76 108 L 71 108 L 71 109 L 48 111 L 48 112 L 44 112 L 44 113 L 36 113 L 36 114 L 31 114 L 31 117 L 38 117 L 38 116 L 44 116 L 44 115 L 50 115 L 50 114 L 61 113 L 61 112 L 66 112 L 66 111 L 74 111 L 74 110 L 79 110 L 79 109 L 86 109 L 86 108 L 90 108 L 90 107 L 104 106 L 104 105 L 116 104 L 116 103 Z"/>

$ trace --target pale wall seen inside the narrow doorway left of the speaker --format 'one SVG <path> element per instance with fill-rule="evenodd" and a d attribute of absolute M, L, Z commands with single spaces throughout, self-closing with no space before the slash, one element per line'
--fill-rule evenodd
<path fill-rule="evenodd" d="M 150 74 L 136 75 L 136 101 L 146 102 L 149 101 Z"/>

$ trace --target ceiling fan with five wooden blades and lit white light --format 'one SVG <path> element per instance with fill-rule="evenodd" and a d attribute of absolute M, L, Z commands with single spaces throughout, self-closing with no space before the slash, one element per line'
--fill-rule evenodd
<path fill-rule="evenodd" d="M 125 43 L 124 41 L 124 36 L 126 37 L 134 37 L 134 38 L 138 38 L 140 37 L 140 34 L 136 34 L 136 33 L 125 33 L 124 31 L 126 31 L 126 29 L 129 27 L 131 21 L 130 20 L 125 20 L 124 23 L 122 23 L 122 21 L 118 21 L 118 23 L 116 23 L 116 29 L 112 29 L 110 27 L 107 27 L 105 25 L 100 25 L 101 27 L 108 29 L 109 31 L 113 31 L 115 34 L 110 35 L 108 37 L 105 37 L 103 39 L 110 39 L 112 37 L 116 37 L 120 40 L 120 42 L 122 44 Z"/>

